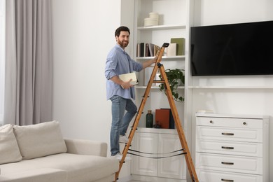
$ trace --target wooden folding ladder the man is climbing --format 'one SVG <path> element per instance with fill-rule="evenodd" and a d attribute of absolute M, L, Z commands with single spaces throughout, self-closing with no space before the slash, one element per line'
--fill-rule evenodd
<path fill-rule="evenodd" d="M 172 115 L 174 116 L 174 122 L 176 124 L 176 130 L 177 130 L 177 133 L 179 135 L 181 146 L 182 146 L 183 151 L 184 151 L 184 155 L 185 155 L 186 163 L 187 163 L 187 166 L 188 166 L 188 171 L 189 171 L 189 174 L 190 174 L 190 178 L 192 179 L 192 181 L 198 182 L 197 174 L 195 172 L 195 167 L 193 165 L 193 160 L 192 160 L 192 158 L 190 156 L 190 151 L 188 149 L 188 144 L 187 144 L 187 141 L 186 141 L 186 137 L 185 137 L 185 134 L 183 132 L 183 128 L 181 126 L 181 120 L 179 119 L 179 114 L 177 112 L 176 105 L 174 104 L 174 98 L 172 97 L 171 88 L 169 87 L 169 81 L 168 81 L 167 75 L 165 73 L 165 68 L 164 68 L 163 64 L 160 64 L 161 59 L 162 59 L 162 55 L 164 53 L 164 50 L 168 46 L 169 46 L 169 43 L 163 43 L 162 47 L 160 48 L 158 59 L 155 62 L 155 66 L 153 68 L 151 78 L 150 78 L 150 80 L 148 82 L 148 85 L 146 87 L 146 91 L 144 92 L 144 98 L 141 101 L 141 104 L 139 106 L 139 111 L 137 112 L 137 116 L 135 117 L 134 123 L 132 125 L 132 130 L 130 131 L 130 134 L 129 134 L 129 141 L 128 141 L 127 144 L 125 144 L 125 148 L 123 149 L 123 158 L 120 160 L 120 167 L 119 167 L 118 172 L 116 172 L 116 180 L 118 180 L 118 175 L 120 174 L 120 170 L 123 167 L 123 163 L 125 162 L 125 157 L 126 157 L 127 152 L 128 152 L 128 150 L 130 148 L 130 145 L 132 143 L 134 133 L 137 130 L 137 125 L 139 125 L 139 120 L 141 118 L 141 114 L 143 113 L 144 106 L 145 106 L 146 100 L 148 98 L 148 94 L 150 93 L 150 90 L 151 90 L 151 86 L 152 86 L 153 83 L 164 83 L 165 88 L 166 88 L 167 98 L 169 100 L 169 106 L 171 107 Z M 160 74 L 161 74 L 162 78 L 161 78 L 161 80 L 154 80 L 155 74 L 157 73 L 158 69 L 160 69 Z"/>

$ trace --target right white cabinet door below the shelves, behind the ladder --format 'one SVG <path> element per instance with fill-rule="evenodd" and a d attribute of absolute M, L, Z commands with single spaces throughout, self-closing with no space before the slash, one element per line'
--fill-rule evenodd
<path fill-rule="evenodd" d="M 170 153 L 181 149 L 177 134 L 158 134 L 158 153 L 169 153 L 172 156 L 181 152 Z M 160 155 L 159 155 L 160 157 Z M 173 179 L 183 179 L 183 155 L 158 160 L 158 176 Z"/>

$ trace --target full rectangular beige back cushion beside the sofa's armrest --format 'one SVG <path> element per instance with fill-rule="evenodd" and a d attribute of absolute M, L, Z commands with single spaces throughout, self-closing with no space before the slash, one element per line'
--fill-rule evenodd
<path fill-rule="evenodd" d="M 59 122 L 55 120 L 36 125 L 13 125 L 13 127 L 23 160 L 67 151 Z"/>

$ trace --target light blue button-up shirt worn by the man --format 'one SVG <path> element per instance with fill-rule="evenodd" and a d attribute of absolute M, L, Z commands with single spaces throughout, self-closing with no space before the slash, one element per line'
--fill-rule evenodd
<path fill-rule="evenodd" d="M 105 77 L 107 99 L 110 99 L 113 95 L 118 95 L 125 99 L 134 99 L 134 87 L 123 89 L 120 85 L 110 80 L 110 78 L 124 73 L 131 73 L 132 71 L 139 72 L 141 69 L 143 69 L 142 64 L 131 59 L 127 52 L 125 52 L 120 45 L 116 44 L 106 59 Z"/>

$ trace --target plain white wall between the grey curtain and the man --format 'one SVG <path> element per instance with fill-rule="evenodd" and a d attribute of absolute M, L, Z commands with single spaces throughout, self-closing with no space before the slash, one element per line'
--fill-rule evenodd
<path fill-rule="evenodd" d="M 120 1 L 54 0 L 53 118 L 64 137 L 109 144 L 111 102 L 104 67 L 116 44 Z"/>

